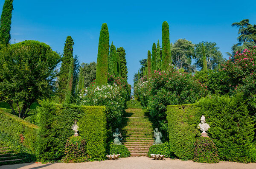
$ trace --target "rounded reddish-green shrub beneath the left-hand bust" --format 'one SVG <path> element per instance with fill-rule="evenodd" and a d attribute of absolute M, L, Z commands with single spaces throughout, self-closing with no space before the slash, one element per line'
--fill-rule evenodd
<path fill-rule="evenodd" d="M 81 163 L 88 161 L 86 141 L 80 136 L 71 136 L 65 146 L 64 163 Z"/>

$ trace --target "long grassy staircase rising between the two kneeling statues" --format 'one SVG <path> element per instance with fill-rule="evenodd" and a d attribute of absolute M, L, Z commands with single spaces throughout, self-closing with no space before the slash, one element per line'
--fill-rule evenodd
<path fill-rule="evenodd" d="M 131 152 L 131 156 L 146 156 L 154 142 L 152 123 L 142 109 L 125 111 L 121 129 L 122 142 Z"/>

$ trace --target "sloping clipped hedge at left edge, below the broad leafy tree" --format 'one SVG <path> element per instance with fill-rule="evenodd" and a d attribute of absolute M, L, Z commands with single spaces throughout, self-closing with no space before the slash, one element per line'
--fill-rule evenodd
<path fill-rule="evenodd" d="M 35 152 L 37 131 L 38 126 L 0 109 L 0 132 L 6 133 L 12 139 L 21 142 L 32 152 Z"/>

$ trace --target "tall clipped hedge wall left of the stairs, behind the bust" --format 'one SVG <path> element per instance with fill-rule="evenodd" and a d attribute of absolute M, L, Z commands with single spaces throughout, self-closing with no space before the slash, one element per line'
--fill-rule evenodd
<path fill-rule="evenodd" d="M 56 161 L 64 156 L 65 144 L 74 134 L 71 126 L 78 119 L 79 135 L 87 142 L 91 160 L 106 155 L 105 107 L 61 105 L 41 101 L 38 111 L 37 157 L 41 161 Z"/>

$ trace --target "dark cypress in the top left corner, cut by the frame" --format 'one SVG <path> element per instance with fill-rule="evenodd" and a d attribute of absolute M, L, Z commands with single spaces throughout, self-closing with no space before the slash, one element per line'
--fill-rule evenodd
<path fill-rule="evenodd" d="M 0 19 L 0 44 L 7 45 L 11 39 L 13 0 L 5 0 Z"/>

